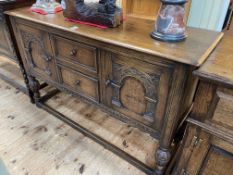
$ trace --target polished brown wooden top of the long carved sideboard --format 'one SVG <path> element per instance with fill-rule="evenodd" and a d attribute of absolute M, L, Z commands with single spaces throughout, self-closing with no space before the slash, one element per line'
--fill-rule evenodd
<path fill-rule="evenodd" d="M 65 21 L 62 12 L 40 15 L 31 12 L 29 7 L 24 7 L 8 11 L 6 14 L 193 66 L 200 66 L 223 36 L 219 32 L 188 28 L 188 38 L 185 41 L 166 43 L 150 37 L 154 28 L 152 20 L 128 17 L 118 28 L 100 29 Z M 78 28 L 74 30 L 74 26 Z"/>

